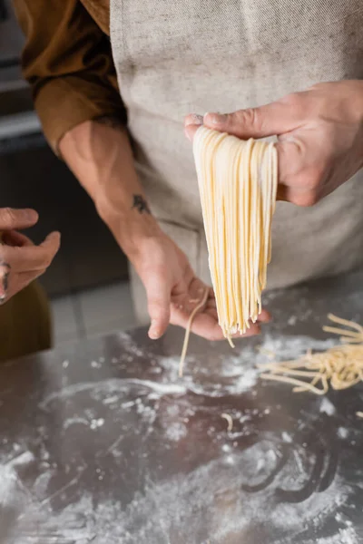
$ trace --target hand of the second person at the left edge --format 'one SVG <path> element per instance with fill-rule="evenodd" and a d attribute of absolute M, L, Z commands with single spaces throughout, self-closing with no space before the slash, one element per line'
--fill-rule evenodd
<path fill-rule="evenodd" d="M 58 232 L 50 234 L 39 246 L 17 232 L 33 227 L 37 220 L 33 209 L 0 209 L 0 304 L 41 276 L 58 251 Z"/>

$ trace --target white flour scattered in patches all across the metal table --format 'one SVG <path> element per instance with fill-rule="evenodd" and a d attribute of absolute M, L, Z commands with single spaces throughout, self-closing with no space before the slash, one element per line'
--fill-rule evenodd
<path fill-rule="evenodd" d="M 132 343 L 131 336 L 126 337 L 129 344 L 125 360 L 127 357 L 132 360 L 134 356 L 145 356 L 142 348 Z M 281 360 L 296 358 L 308 349 L 325 350 L 335 344 L 332 340 L 318 341 L 306 336 L 265 336 L 260 346 L 262 353 L 250 345 L 239 347 L 227 356 L 221 355 L 213 365 L 212 372 L 195 356 L 189 356 L 182 379 L 178 377 L 179 357 L 165 356 L 152 367 L 148 376 L 150 379 L 110 378 L 67 385 L 61 391 L 49 394 L 39 408 L 46 412 L 51 410 L 53 403 L 68 406 L 68 417 L 64 417 L 63 421 L 64 432 L 74 424 L 83 424 L 94 432 L 94 440 L 99 438 L 100 434 L 96 433 L 102 432 L 107 414 L 116 410 L 117 415 L 120 414 L 116 420 L 120 435 L 99 452 L 99 457 L 96 454 L 96 458 L 102 459 L 111 452 L 122 461 L 124 435 L 129 433 L 134 437 L 138 432 L 142 433 L 142 449 L 139 452 L 142 457 L 145 456 L 147 437 L 154 432 L 156 422 L 168 448 L 179 448 L 177 442 L 188 437 L 190 417 L 198 408 L 184 400 L 187 394 L 210 397 L 209 402 L 213 406 L 210 410 L 214 412 L 204 414 L 205 418 L 211 421 L 215 415 L 215 421 L 221 423 L 219 404 L 213 398 L 239 395 L 254 388 L 260 374 L 256 364 L 269 360 L 263 352 L 276 354 Z M 100 357 L 95 361 L 96 365 L 91 366 L 98 368 L 103 361 Z M 160 372 L 154 372 L 155 369 Z M 92 403 L 79 403 L 78 409 L 82 406 L 83 412 L 74 416 L 72 403 L 76 403 L 78 395 L 86 395 L 85 398 L 91 398 Z M 102 413 L 95 408 L 90 409 L 93 401 L 99 403 L 94 405 L 101 406 Z M 161 403 L 164 403 L 162 411 Z M 334 405 L 327 398 L 321 399 L 318 406 L 320 413 L 335 413 Z M 202 407 L 201 403 L 199 422 L 202 421 Z M 126 411 L 135 416 L 131 427 L 123 426 L 126 423 L 123 423 L 122 414 Z M 261 413 L 269 416 L 270 409 L 264 406 Z M 236 422 L 244 423 L 242 427 L 248 428 L 250 421 L 259 415 L 259 408 L 252 406 L 246 408 L 244 413 L 233 413 L 233 418 Z M 213 442 L 218 432 L 210 425 L 206 435 L 212 437 Z M 338 434 L 346 438 L 348 431 L 339 428 Z M 233 440 L 240 440 L 240 435 L 233 436 Z M 222 432 L 221 436 L 224 436 Z M 25 537 L 14 541 L 14 544 L 38 544 L 43 541 L 60 544 L 201 544 L 201 534 L 209 535 L 211 544 L 240 544 L 240 541 L 255 544 L 256 531 L 259 541 L 269 544 L 292 541 L 290 535 L 299 544 L 358 544 L 355 529 L 348 525 L 348 520 L 337 518 L 337 510 L 348 503 L 350 491 L 338 475 L 328 490 L 313 492 L 309 499 L 302 502 L 291 504 L 275 500 L 275 493 L 280 489 L 300 489 L 309 480 L 311 460 L 308 449 L 294 449 L 283 470 L 277 472 L 269 485 L 263 486 L 263 482 L 279 466 L 280 446 L 277 447 L 276 441 L 276 436 L 265 432 L 260 442 L 244 450 L 240 450 L 240 442 L 231 442 L 233 447 L 229 443 L 218 442 L 220 456 L 217 459 L 164 481 L 147 481 L 145 489 L 137 492 L 126 504 L 122 504 L 118 498 L 109 497 L 111 491 L 108 488 L 99 502 L 91 491 L 85 490 L 82 495 L 74 493 L 73 503 L 59 511 L 51 507 L 49 498 L 46 498 L 49 483 L 56 474 L 54 460 L 49 463 L 43 461 L 44 473 L 34 480 L 30 492 L 20 481 L 17 471 L 34 462 L 34 454 L 18 451 L 10 461 L 2 460 L 3 464 L 0 464 L 0 505 L 10 504 L 15 511 L 25 511 L 25 515 L 19 519 Z M 289 432 L 282 432 L 279 441 L 283 447 L 294 446 Z M 44 455 L 44 460 L 48 457 Z M 107 471 L 97 470 L 97 480 L 102 482 L 106 479 Z M 75 481 L 76 484 L 77 479 L 78 476 L 75 476 L 71 483 Z M 262 486 L 262 489 L 249 491 L 256 486 Z M 41 507 L 44 500 L 46 511 Z M 320 535 L 330 520 L 337 524 L 336 535 L 325 539 Z M 307 527 L 314 527 L 316 538 L 304 539 Z"/>

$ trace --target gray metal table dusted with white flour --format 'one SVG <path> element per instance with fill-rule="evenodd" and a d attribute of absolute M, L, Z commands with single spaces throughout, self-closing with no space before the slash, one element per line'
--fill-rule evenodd
<path fill-rule="evenodd" d="M 0 368 L 0 542 L 363 542 L 363 387 L 318 398 L 262 382 L 263 345 L 324 349 L 363 322 L 363 273 L 266 296 L 232 351 L 182 331 L 96 338 Z M 221 413 L 233 419 L 231 432 Z"/>

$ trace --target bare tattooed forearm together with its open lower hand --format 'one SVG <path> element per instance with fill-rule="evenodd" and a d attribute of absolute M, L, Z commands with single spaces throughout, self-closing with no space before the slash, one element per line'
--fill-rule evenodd
<path fill-rule="evenodd" d="M 185 327 L 207 286 L 152 217 L 127 132 L 103 121 L 86 121 L 67 132 L 59 147 L 142 279 L 151 318 L 150 337 L 162 336 L 169 323 Z M 262 312 L 260 322 L 268 320 L 269 315 Z M 223 338 L 211 288 L 192 331 L 210 340 Z M 251 325 L 247 335 L 259 331 L 259 324 Z"/>

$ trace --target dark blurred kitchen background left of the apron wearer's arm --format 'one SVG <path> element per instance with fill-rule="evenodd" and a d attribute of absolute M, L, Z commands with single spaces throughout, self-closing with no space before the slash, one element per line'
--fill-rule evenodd
<path fill-rule="evenodd" d="M 51 298 L 56 345 L 135 325 L 127 261 L 91 199 L 44 140 L 22 78 L 24 37 L 10 0 L 0 0 L 0 207 L 34 208 L 40 242 L 62 247 L 41 281 Z"/>

